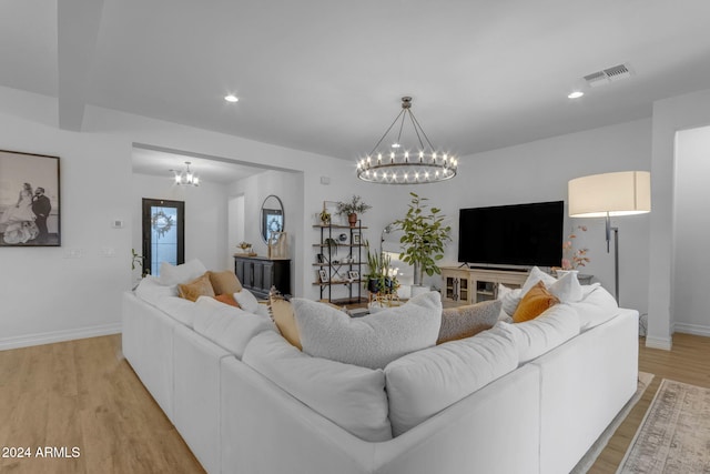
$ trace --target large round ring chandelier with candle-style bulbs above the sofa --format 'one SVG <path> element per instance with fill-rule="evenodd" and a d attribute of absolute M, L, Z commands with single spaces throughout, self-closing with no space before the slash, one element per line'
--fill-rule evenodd
<path fill-rule="evenodd" d="M 417 149 L 407 148 L 402 143 L 402 131 L 407 118 L 419 142 Z M 399 122 L 397 140 L 390 144 L 390 150 L 383 151 L 379 145 L 397 122 Z M 428 148 L 424 145 L 422 138 Z M 412 98 L 403 97 L 399 114 L 373 151 L 357 162 L 357 178 L 382 184 L 423 184 L 450 180 L 456 175 L 457 168 L 458 160 L 450 154 L 438 152 L 424 133 L 412 112 Z"/>

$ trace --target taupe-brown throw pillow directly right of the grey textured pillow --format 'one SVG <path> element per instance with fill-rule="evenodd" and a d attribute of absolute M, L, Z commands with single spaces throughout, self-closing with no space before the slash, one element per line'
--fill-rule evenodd
<path fill-rule="evenodd" d="M 489 330 L 498 321 L 501 306 L 503 301 L 493 300 L 444 310 L 436 343 L 457 341 Z"/>

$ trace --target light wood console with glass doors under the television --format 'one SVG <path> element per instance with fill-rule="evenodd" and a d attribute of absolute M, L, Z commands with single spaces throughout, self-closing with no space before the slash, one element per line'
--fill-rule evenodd
<path fill-rule="evenodd" d="M 526 269 L 442 266 L 442 301 L 447 305 L 464 305 L 495 300 L 498 283 L 520 288 L 527 278 Z"/>

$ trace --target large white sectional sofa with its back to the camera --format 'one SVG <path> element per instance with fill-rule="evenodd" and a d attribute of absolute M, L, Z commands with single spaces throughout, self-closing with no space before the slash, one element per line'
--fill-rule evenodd
<path fill-rule="evenodd" d="M 599 286 L 384 370 L 301 353 L 256 313 L 123 295 L 124 355 L 210 473 L 567 473 L 637 387 L 638 313 Z"/>

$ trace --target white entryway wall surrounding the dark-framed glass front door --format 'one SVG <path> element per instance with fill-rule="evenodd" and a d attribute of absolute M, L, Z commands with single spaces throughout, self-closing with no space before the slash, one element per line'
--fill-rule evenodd
<path fill-rule="evenodd" d="M 185 262 L 200 259 L 207 269 L 231 269 L 227 260 L 226 185 L 201 180 L 199 188 L 179 186 L 170 174 L 134 173 L 131 188 L 132 246 L 141 253 L 141 204 L 143 198 L 185 203 Z M 227 262 L 227 263 L 225 263 Z M 138 270 L 136 272 L 138 273 Z"/>

